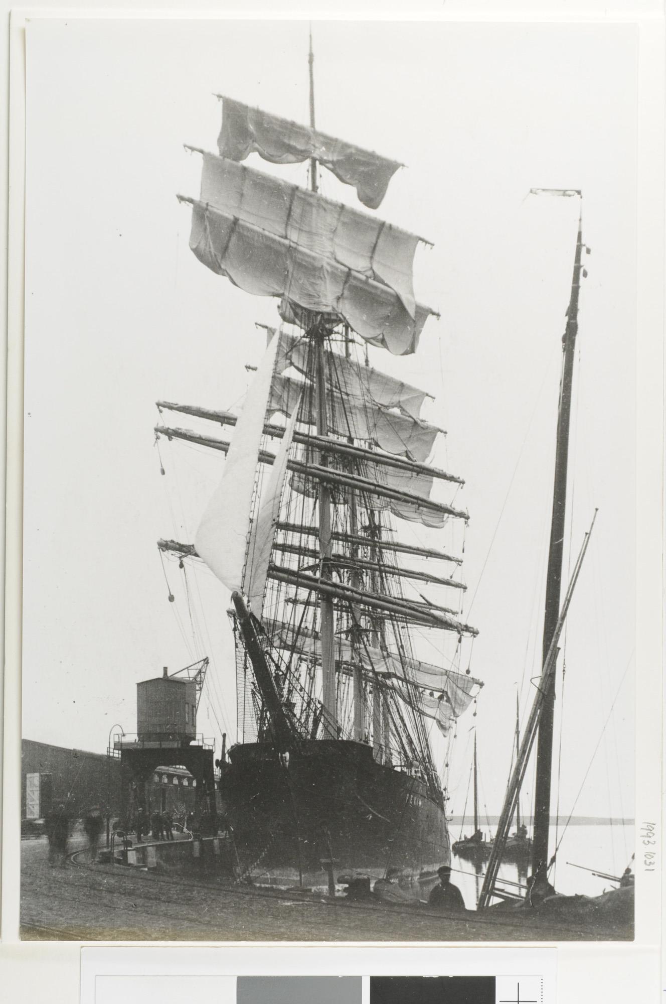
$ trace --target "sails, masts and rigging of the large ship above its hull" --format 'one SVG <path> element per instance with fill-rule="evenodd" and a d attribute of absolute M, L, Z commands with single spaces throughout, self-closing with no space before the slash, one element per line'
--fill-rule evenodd
<path fill-rule="evenodd" d="M 245 741 L 272 742 L 284 707 L 303 737 L 367 743 L 378 763 L 418 770 L 443 808 L 426 720 L 446 735 L 473 700 L 481 685 L 454 668 L 477 633 L 460 619 L 464 582 L 400 555 L 461 558 L 397 537 L 400 520 L 466 522 L 450 487 L 463 482 L 427 464 L 442 433 L 421 417 L 428 395 L 369 366 L 362 345 L 415 351 L 434 312 L 414 297 L 421 238 L 321 196 L 314 163 L 306 191 L 241 162 L 252 153 L 318 162 L 371 208 L 399 165 L 316 131 L 314 113 L 308 129 L 223 102 L 220 156 L 198 150 L 200 197 L 179 197 L 192 206 L 191 249 L 240 289 L 278 299 L 301 333 L 271 331 L 238 419 L 159 404 L 236 430 L 230 442 L 205 427 L 156 426 L 157 436 L 228 455 L 195 544 L 158 546 L 202 557 L 249 600 L 254 617 L 241 603 L 235 621 Z M 455 548 L 461 536 L 449 533 Z M 437 659 L 450 670 L 415 658 L 414 626 L 428 641 L 437 632 Z"/>

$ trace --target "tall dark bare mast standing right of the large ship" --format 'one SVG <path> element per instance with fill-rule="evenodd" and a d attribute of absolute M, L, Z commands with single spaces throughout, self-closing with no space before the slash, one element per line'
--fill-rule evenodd
<path fill-rule="evenodd" d="M 580 193 L 578 193 L 580 196 Z M 565 511 L 567 504 L 567 467 L 569 460 L 569 428 L 571 418 L 574 355 L 578 332 L 578 301 L 581 281 L 581 253 L 583 249 L 583 213 L 579 214 L 578 237 L 574 257 L 571 296 L 567 308 L 567 326 L 563 336 L 562 378 L 558 410 L 558 432 L 555 457 L 555 484 L 551 544 L 546 585 L 546 611 L 544 615 L 543 665 L 551 648 L 560 615 L 560 588 L 562 583 L 562 558 L 565 536 Z M 544 677 L 542 677 L 544 681 Z M 548 865 L 549 826 L 551 822 L 551 780 L 553 767 L 553 720 L 555 713 L 555 674 L 542 683 L 544 703 L 539 722 L 537 742 L 537 779 L 535 784 L 535 821 L 532 845 L 532 873 L 540 869 L 544 878 Z"/>

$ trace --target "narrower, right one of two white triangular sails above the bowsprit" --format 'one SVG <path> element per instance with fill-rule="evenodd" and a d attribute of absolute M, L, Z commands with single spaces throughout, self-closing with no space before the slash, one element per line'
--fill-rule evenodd
<path fill-rule="evenodd" d="M 277 341 L 277 339 L 274 340 Z M 294 414 L 285 430 L 285 435 L 282 438 L 280 449 L 276 454 L 275 462 L 271 468 L 268 485 L 265 492 L 262 493 L 257 518 L 254 520 L 250 531 L 250 545 L 248 547 L 248 560 L 243 578 L 243 592 L 248 597 L 252 612 L 260 620 L 263 611 L 268 567 L 271 563 L 271 551 L 280 517 L 280 500 L 287 476 L 289 450 L 294 436 L 297 417 L 298 408 L 295 408 Z"/>

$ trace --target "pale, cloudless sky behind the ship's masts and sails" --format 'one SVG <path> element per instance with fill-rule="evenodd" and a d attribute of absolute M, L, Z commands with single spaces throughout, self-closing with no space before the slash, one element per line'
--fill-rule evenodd
<path fill-rule="evenodd" d="M 238 404 L 246 363 L 265 344 L 255 322 L 278 315 L 276 301 L 196 260 L 176 194 L 198 195 L 200 161 L 183 144 L 215 150 L 214 93 L 307 120 L 307 35 L 305 22 L 28 27 L 27 738 L 103 751 L 114 726 L 135 731 L 138 681 L 208 655 L 199 728 L 218 748 L 223 731 L 234 740 L 229 594 L 204 568 L 186 581 L 168 563 L 164 576 L 155 547 L 158 537 L 194 539 L 222 461 L 163 440 L 158 454 L 154 402 Z M 372 361 L 434 396 L 428 417 L 447 431 L 436 460 L 465 479 L 463 614 L 479 631 L 470 669 L 484 687 L 449 758 L 454 812 L 474 726 L 482 802 L 500 810 L 517 689 L 525 720 L 540 671 L 580 203 L 529 192 L 583 191 L 592 253 L 565 581 L 597 507 L 599 516 L 563 642 L 554 799 L 566 814 L 633 815 L 635 33 L 316 22 L 313 36 L 318 127 L 407 165 L 378 215 L 434 244 L 417 252 L 415 289 L 440 319 L 428 320 L 413 356 L 374 350 Z M 352 200 L 322 176 L 323 194 Z M 305 167 L 282 177 L 305 184 Z M 526 797 L 531 785 L 529 775 Z"/>

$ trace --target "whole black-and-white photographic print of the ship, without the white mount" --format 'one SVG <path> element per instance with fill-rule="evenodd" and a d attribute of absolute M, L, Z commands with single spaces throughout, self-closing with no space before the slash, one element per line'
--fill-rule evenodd
<path fill-rule="evenodd" d="M 631 942 L 635 26 L 25 58 L 21 938 Z"/>

